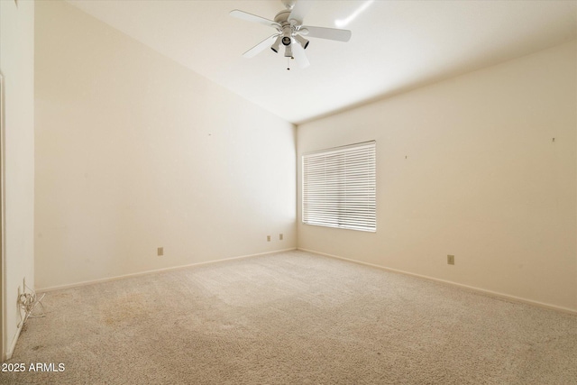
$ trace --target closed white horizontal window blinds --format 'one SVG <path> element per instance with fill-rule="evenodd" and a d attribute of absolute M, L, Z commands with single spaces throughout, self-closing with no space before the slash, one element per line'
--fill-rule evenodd
<path fill-rule="evenodd" d="M 302 221 L 377 231 L 376 142 L 304 154 Z"/>

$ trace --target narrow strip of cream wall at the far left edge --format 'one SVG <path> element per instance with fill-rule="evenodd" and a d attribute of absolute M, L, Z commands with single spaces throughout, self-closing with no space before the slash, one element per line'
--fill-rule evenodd
<path fill-rule="evenodd" d="M 34 287 L 34 3 L 0 1 L 0 71 L 5 81 L 5 351 L 14 350 L 19 292 Z"/>

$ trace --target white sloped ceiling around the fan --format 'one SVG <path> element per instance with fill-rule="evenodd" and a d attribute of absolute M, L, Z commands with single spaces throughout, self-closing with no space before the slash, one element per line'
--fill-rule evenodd
<path fill-rule="evenodd" d="M 307 0 L 300 0 L 307 1 Z M 376 0 L 349 42 L 310 39 L 311 65 L 242 54 L 274 32 L 229 16 L 274 19 L 279 0 L 69 0 L 137 41 L 298 124 L 577 37 L 577 1 Z M 365 1 L 316 1 L 308 25 L 334 28 Z"/>

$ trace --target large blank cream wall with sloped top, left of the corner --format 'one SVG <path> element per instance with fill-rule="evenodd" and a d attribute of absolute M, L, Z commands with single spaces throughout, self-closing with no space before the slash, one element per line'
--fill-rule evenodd
<path fill-rule="evenodd" d="M 62 2 L 35 75 L 38 288 L 296 247 L 292 124 Z"/>

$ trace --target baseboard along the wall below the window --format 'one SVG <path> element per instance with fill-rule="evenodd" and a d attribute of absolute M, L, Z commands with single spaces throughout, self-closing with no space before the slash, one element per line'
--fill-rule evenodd
<path fill-rule="evenodd" d="M 563 313 L 569 313 L 572 315 L 577 315 L 577 310 L 569 308 L 569 307 L 559 307 L 556 305 L 551 305 L 551 304 L 546 304 L 545 302 L 539 302 L 539 301 L 535 301 L 532 299 L 527 299 L 527 298 L 520 298 L 520 297 L 516 297 L 516 296 L 511 296 L 508 294 L 504 294 L 504 293 L 499 293 L 498 291 L 492 291 L 492 290 L 488 290 L 488 289 L 481 289 L 481 288 L 476 288 L 474 286 L 468 286 L 468 285 L 463 285 L 462 283 L 457 283 L 457 282 L 453 282 L 451 280 L 440 280 L 438 278 L 434 278 L 434 277 L 429 277 L 426 275 L 421 275 L 421 274 L 415 274 L 412 272 L 408 272 L 408 271 L 404 271 L 404 270 L 397 270 L 397 269 L 391 269 L 385 266 L 380 266 L 380 265 L 376 265 L 373 263 L 368 263 L 368 262 L 363 262 L 363 261 L 356 261 L 356 260 L 352 260 L 349 258 L 343 258 L 340 257 L 338 255 L 333 255 L 333 254 L 327 254 L 325 252 L 316 252 L 314 250 L 307 250 L 307 249 L 302 249 L 302 248 L 298 248 L 297 250 L 300 250 L 302 252 L 311 252 L 314 254 L 318 254 L 318 255 L 323 255 L 325 257 L 330 257 L 330 258 L 335 258 L 337 260 L 342 260 L 342 261 L 349 261 L 349 262 L 353 262 L 353 263 L 358 263 L 361 265 L 365 265 L 365 266 L 371 266 L 373 268 L 377 268 L 380 270 L 387 270 L 387 271 L 392 271 L 392 272 L 397 272 L 400 274 L 405 274 L 405 275 L 410 275 L 413 277 L 417 277 L 417 278 L 421 278 L 424 280 L 434 280 L 435 282 L 442 282 L 442 283 L 446 283 L 449 285 L 453 285 L 453 286 L 457 286 L 459 288 L 463 288 L 463 289 L 469 289 L 472 291 L 476 291 L 476 292 L 480 292 L 486 295 L 489 295 L 491 297 L 497 297 L 497 298 L 504 298 L 504 299 L 508 299 L 514 302 L 522 302 L 528 305 L 533 305 L 536 307 L 545 307 L 545 308 L 549 308 L 549 309 L 553 309 L 553 310 L 557 310 L 557 311 L 562 311 Z"/>

